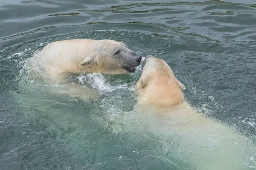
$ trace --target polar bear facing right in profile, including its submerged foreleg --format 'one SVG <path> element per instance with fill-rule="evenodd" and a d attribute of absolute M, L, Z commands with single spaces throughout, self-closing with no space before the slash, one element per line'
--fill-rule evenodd
<path fill-rule="evenodd" d="M 135 71 L 141 56 L 115 40 L 63 40 L 51 42 L 26 62 L 32 68 L 32 79 L 40 75 L 50 85 L 53 93 L 69 94 L 87 101 L 96 91 L 81 88 L 76 83 L 64 82 L 70 73 L 125 74 Z M 38 74 L 39 73 L 39 74 Z M 39 77 L 39 79 L 41 79 Z"/>

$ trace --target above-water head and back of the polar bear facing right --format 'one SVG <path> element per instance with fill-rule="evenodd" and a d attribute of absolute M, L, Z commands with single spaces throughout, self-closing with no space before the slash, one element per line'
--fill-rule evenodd
<path fill-rule="evenodd" d="M 39 56 L 52 78 L 64 72 L 134 72 L 142 58 L 123 42 L 85 39 L 51 42 L 41 50 Z"/>

